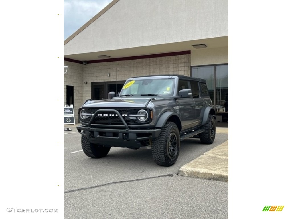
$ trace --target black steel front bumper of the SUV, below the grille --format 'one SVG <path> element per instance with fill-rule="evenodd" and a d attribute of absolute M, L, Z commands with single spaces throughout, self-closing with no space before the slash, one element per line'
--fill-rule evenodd
<path fill-rule="evenodd" d="M 92 128 L 85 125 L 77 126 L 77 130 L 81 135 L 85 135 L 91 143 L 129 148 L 139 148 L 142 146 L 142 141 L 157 138 L 161 132 L 161 129 L 108 129 Z"/>

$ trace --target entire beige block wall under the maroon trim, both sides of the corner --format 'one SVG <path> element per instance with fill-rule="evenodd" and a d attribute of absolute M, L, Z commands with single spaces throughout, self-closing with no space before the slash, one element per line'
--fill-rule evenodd
<path fill-rule="evenodd" d="M 136 59 L 116 62 L 100 62 L 82 65 L 64 61 L 68 66 L 64 74 L 64 105 L 66 85 L 74 86 L 74 116 L 78 122 L 78 109 L 86 99 L 91 98 L 91 82 L 125 81 L 130 77 L 179 74 L 190 76 L 191 55 L 175 55 L 158 58 Z M 108 77 L 110 73 L 110 77 Z M 87 84 L 84 82 L 87 81 Z"/>

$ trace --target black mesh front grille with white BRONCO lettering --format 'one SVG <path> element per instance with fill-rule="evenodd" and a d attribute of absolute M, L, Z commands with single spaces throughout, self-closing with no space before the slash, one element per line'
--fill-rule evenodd
<path fill-rule="evenodd" d="M 86 108 L 86 112 L 89 112 L 91 114 L 94 114 L 98 109 L 101 108 Z M 123 114 L 137 114 L 137 112 L 140 110 L 139 109 L 135 109 L 135 108 L 120 108 L 120 109 L 116 109 L 121 115 Z M 114 112 L 111 111 L 104 111 L 104 112 L 100 112 L 100 114 L 115 114 Z M 128 125 L 131 124 L 135 124 L 135 123 L 139 123 L 139 121 L 136 119 L 136 117 L 123 117 L 125 122 Z M 88 122 L 90 121 L 91 117 L 88 118 Z M 116 116 L 95 116 L 92 123 L 93 125 L 97 125 L 97 124 L 104 124 L 104 125 L 123 125 L 123 122 L 121 121 L 120 117 L 116 117 Z"/>

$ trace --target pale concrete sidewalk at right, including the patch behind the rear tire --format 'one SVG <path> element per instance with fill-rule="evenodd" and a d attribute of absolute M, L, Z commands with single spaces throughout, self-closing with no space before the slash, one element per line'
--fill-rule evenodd
<path fill-rule="evenodd" d="M 228 134 L 228 128 L 216 128 L 216 133 Z M 228 140 L 183 165 L 179 175 L 228 182 Z"/>

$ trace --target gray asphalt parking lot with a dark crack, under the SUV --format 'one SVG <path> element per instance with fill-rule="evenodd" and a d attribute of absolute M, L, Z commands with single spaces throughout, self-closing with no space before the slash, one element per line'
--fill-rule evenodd
<path fill-rule="evenodd" d="M 182 141 L 176 163 L 164 167 L 147 148 L 112 147 L 104 158 L 89 158 L 70 128 L 64 131 L 64 218 L 228 218 L 227 182 L 178 175 L 228 134 L 217 133 L 211 145 Z"/>

